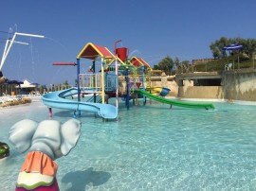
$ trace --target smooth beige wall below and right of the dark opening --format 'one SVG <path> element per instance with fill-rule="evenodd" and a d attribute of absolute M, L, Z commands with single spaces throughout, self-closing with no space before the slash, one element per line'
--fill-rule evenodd
<path fill-rule="evenodd" d="M 256 70 L 225 71 L 222 86 L 192 86 L 189 80 L 178 87 L 178 97 L 256 101 Z"/>

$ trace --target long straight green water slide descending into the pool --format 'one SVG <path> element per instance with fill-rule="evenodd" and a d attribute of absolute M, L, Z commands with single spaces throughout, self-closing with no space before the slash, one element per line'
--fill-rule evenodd
<path fill-rule="evenodd" d="M 180 101 L 180 100 L 174 100 L 174 99 L 167 99 L 162 96 L 155 96 L 152 95 L 146 91 L 143 90 L 135 90 L 135 94 L 147 96 L 151 99 L 154 99 L 155 101 L 169 104 L 172 106 L 178 106 L 178 107 L 183 107 L 183 108 L 197 108 L 197 109 L 214 109 L 214 106 L 211 103 L 198 103 L 198 102 L 189 102 L 189 101 Z"/>

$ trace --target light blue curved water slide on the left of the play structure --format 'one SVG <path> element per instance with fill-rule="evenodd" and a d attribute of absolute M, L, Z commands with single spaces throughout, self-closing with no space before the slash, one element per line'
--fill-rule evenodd
<path fill-rule="evenodd" d="M 66 96 L 78 94 L 77 88 L 70 88 L 63 91 L 56 91 L 42 96 L 43 103 L 50 108 L 58 108 L 72 111 L 86 111 L 98 113 L 106 119 L 115 119 L 118 116 L 118 109 L 110 104 L 91 103 L 66 99 Z"/>

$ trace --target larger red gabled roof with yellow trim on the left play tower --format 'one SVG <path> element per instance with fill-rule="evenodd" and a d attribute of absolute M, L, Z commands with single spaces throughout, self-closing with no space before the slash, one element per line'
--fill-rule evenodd
<path fill-rule="evenodd" d="M 77 59 L 90 59 L 95 61 L 98 57 L 115 59 L 115 55 L 113 55 L 109 49 L 95 43 L 86 43 L 77 56 Z"/>

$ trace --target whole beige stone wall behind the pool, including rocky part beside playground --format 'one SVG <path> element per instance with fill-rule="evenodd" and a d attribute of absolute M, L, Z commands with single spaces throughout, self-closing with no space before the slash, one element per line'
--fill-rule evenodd
<path fill-rule="evenodd" d="M 205 77 L 207 78 L 207 77 Z M 152 77 L 151 85 L 170 88 L 168 96 L 180 98 L 208 98 L 256 101 L 256 69 L 225 71 L 220 77 L 221 86 L 194 86 L 193 80 L 179 80 L 174 76 Z M 149 83 L 149 80 L 146 80 Z"/>

